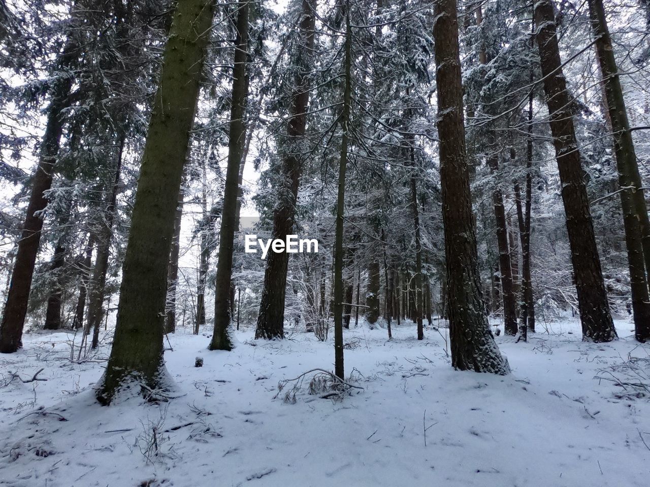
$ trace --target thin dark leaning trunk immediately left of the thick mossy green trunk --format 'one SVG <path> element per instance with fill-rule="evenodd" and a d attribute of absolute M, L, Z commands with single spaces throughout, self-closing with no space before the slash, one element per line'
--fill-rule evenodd
<path fill-rule="evenodd" d="M 103 306 L 106 288 L 106 273 L 109 269 L 110 243 L 113 236 L 113 222 L 117 211 L 116 201 L 120 188 L 120 173 L 122 171 L 122 156 L 124 152 L 124 136 L 120 136 L 120 149 L 115 166 L 115 175 L 110 196 L 105 209 L 105 220 L 99 224 L 97 231 L 97 256 L 90 282 L 90 297 L 88 301 L 88 322 L 84 328 L 84 338 L 92 329 L 92 348 L 99 344 L 99 326 L 103 316 Z M 83 343 L 83 340 L 82 340 Z"/>

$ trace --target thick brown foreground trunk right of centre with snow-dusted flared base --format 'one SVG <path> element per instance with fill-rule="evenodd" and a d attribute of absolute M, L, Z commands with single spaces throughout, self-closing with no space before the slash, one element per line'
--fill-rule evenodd
<path fill-rule="evenodd" d="M 452 366 L 506 374 L 481 296 L 476 232 L 469 190 L 463 125 L 463 88 L 458 49 L 456 0 L 434 4 L 440 179 Z"/>

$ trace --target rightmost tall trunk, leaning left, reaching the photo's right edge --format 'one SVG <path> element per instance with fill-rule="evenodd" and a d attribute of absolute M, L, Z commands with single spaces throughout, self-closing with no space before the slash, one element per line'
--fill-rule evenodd
<path fill-rule="evenodd" d="M 591 28 L 596 36 L 596 52 L 603 73 L 609 118 L 614 132 L 619 187 L 628 188 L 621 191 L 620 195 L 632 290 L 634 337 L 639 342 L 645 342 L 650 340 L 650 299 L 647 287 L 647 276 L 650 275 L 650 225 L 647 206 L 603 0 L 588 0 L 588 4 Z"/>

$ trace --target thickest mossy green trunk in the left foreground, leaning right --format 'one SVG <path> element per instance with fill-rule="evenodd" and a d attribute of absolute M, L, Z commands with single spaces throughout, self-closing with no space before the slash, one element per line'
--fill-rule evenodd
<path fill-rule="evenodd" d="M 179 0 L 163 54 L 133 206 L 118 318 L 98 399 L 109 404 L 129 379 L 142 393 L 164 387 L 162 337 L 175 209 L 209 40 L 213 3 Z M 155 238 L 152 238 L 155 236 Z"/>

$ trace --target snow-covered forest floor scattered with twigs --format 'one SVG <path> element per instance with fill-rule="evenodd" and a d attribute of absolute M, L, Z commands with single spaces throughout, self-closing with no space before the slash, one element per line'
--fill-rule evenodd
<path fill-rule="evenodd" d="M 571 318 L 528 343 L 500 336 L 512 374 L 498 377 L 452 370 L 446 329 L 418 342 L 410 323 L 393 326 L 388 341 L 363 326 L 344 334 L 363 389 L 321 399 L 310 374 L 294 402 L 278 382 L 333 369 L 331 337 L 241 331 L 224 353 L 207 351 L 207 332 L 178 333 L 165 358 L 180 397 L 109 407 L 92 390 L 106 345 L 75 363 L 72 335 L 30 334 L 0 356 L 0 485 L 647 486 L 650 345 L 631 328 L 617 321 L 606 344 L 582 343 Z M 23 382 L 41 368 L 47 381 Z"/>

